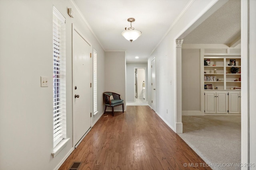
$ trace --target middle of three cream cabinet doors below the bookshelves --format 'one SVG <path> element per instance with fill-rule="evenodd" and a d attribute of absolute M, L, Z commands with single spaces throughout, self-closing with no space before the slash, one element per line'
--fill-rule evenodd
<path fill-rule="evenodd" d="M 227 92 L 216 92 L 216 113 L 228 113 Z"/>

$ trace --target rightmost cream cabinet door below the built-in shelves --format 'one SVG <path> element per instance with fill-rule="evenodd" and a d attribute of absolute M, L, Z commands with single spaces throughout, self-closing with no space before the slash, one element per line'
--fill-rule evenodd
<path fill-rule="evenodd" d="M 228 111 L 229 113 L 240 113 L 240 92 L 229 92 Z"/>

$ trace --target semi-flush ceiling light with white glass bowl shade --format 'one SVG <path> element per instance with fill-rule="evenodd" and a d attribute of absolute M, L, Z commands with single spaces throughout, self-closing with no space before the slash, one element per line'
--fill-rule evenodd
<path fill-rule="evenodd" d="M 134 29 L 134 27 L 132 27 L 132 22 L 135 21 L 134 18 L 128 18 L 127 21 L 131 23 L 131 27 L 129 27 L 128 29 L 125 28 L 125 31 L 122 32 L 122 36 L 124 36 L 124 38 L 128 41 L 132 42 L 140 37 L 141 31 L 137 31 Z"/>

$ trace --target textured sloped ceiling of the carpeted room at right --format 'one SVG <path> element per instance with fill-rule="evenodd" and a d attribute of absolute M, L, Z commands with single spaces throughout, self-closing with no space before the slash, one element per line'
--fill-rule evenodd
<path fill-rule="evenodd" d="M 241 1 L 229 0 L 184 37 L 184 44 L 232 45 L 241 38 Z"/>

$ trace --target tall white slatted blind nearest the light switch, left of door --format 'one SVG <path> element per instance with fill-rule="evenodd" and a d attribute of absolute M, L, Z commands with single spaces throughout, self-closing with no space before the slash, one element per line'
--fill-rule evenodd
<path fill-rule="evenodd" d="M 64 113 L 62 94 L 62 27 L 65 18 L 53 8 L 53 145 L 56 147 L 64 138 Z"/>

